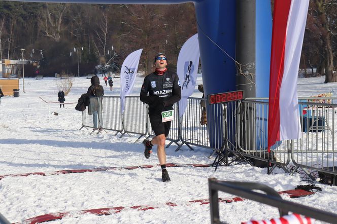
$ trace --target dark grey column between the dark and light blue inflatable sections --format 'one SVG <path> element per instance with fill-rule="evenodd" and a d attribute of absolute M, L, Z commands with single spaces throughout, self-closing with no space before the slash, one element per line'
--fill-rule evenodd
<path fill-rule="evenodd" d="M 255 97 L 255 12 L 256 0 L 236 1 L 236 87 L 244 90 L 244 97 Z M 243 111 L 248 115 L 242 121 L 240 139 L 244 139 L 244 150 L 254 150 L 256 147 L 256 120 L 253 106 Z"/>

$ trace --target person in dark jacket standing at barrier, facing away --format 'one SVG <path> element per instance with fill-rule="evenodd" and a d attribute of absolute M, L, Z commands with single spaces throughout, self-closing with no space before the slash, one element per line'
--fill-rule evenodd
<path fill-rule="evenodd" d="M 97 76 L 91 77 L 90 82 L 91 86 L 89 86 L 87 94 L 94 98 L 90 97 L 89 110 L 92 113 L 94 129 L 100 129 L 100 127 L 98 127 L 100 125 L 101 114 L 99 108 L 102 109 L 102 98 L 99 100 L 98 97 L 104 96 L 104 89 L 103 86 L 99 85 L 99 78 Z"/>

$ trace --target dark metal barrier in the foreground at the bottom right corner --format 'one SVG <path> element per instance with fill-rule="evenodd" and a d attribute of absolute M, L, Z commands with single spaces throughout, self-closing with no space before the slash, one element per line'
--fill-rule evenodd
<path fill-rule="evenodd" d="M 261 183 L 237 182 L 237 181 L 219 181 L 215 178 L 208 179 L 208 188 L 210 194 L 211 223 L 225 223 L 220 221 L 219 197 L 218 191 L 226 192 L 242 198 L 260 202 L 279 209 L 280 216 L 288 214 L 288 211 L 322 220 L 328 223 L 337 223 L 337 215 L 312 208 L 306 205 L 283 200 L 281 196 L 269 186 Z M 255 192 L 260 190 L 267 195 Z M 242 214 L 241 214 L 242 216 Z"/>

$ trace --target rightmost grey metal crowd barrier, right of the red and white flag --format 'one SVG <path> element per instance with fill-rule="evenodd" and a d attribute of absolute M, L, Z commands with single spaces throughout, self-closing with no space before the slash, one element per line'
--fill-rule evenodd
<path fill-rule="evenodd" d="M 331 99 L 328 100 L 332 102 Z M 336 174 L 334 126 L 337 104 L 317 102 L 317 98 L 310 98 L 299 102 L 299 111 L 302 134 L 300 139 L 293 140 L 292 162 L 296 168 Z"/>

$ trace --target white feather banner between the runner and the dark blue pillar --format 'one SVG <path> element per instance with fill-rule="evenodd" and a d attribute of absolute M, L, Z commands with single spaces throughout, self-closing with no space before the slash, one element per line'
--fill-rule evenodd
<path fill-rule="evenodd" d="M 196 74 L 199 66 L 198 34 L 194 34 L 181 48 L 177 62 L 177 74 L 181 83 L 181 99 L 179 101 L 179 117 L 183 116 L 187 106 L 187 98 L 194 92 Z"/>

